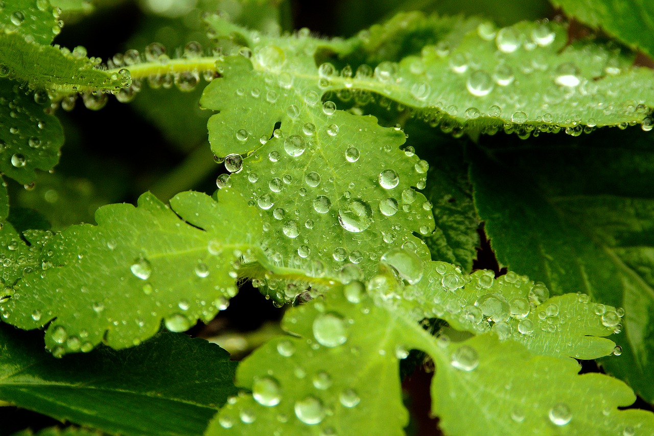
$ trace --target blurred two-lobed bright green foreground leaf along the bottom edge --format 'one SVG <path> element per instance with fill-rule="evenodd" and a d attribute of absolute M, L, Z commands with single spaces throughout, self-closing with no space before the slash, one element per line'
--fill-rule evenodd
<path fill-rule="evenodd" d="M 447 434 L 654 431 L 654 414 L 617 409 L 636 399 L 623 382 L 577 376 L 573 359 L 536 355 L 494 335 L 438 340 L 380 300 L 374 287 L 370 296 L 360 282 L 339 285 L 289 310 L 283 325 L 292 335 L 271 340 L 239 365 L 237 385 L 252 394 L 228 401 L 205 434 L 402 435 L 408 416 L 398 359 L 412 348 L 436 363 L 432 410 Z M 565 426 L 561 410 L 572 413 Z"/>

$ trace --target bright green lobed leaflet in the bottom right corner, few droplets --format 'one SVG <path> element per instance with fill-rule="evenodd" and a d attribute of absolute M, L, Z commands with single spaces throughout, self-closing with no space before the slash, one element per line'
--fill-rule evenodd
<path fill-rule="evenodd" d="M 490 335 L 446 350 L 451 357 L 436 362 L 432 412 L 447 435 L 654 431 L 651 412 L 617 409 L 636 401 L 626 384 L 596 372 L 578 375 L 581 367 L 573 359 L 533 355 Z"/>

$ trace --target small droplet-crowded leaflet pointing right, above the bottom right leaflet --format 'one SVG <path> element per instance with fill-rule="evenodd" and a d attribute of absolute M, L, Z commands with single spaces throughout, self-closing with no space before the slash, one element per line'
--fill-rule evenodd
<path fill-rule="evenodd" d="M 384 289 L 381 296 L 388 300 L 388 291 Z M 405 287 L 396 298 L 407 301 L 409 313 L 421 308 L 419 318 L 444 319 L 451 327 L 475 335 L 490 330 L 534 354 L 596 359 L 613 353 L 615 343 L 600 336 L 611 335 L 621 321 L 615 308 L 604 306 L 609 314 L 604 323 L 610 324 L 604 325 L 587 295 L 548 297 L 542 283 L 514 272 L 497 279 L 486 270 L 468 276 L 451 264 L 428 262 L 422 280 Z M 614 316 L 611 322 L 609 316 Z"/>

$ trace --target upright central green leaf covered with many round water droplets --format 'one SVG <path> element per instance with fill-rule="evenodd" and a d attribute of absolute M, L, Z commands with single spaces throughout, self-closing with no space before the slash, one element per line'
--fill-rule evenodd
<path fill-rule="evenodd" d="M 222 64 L 223 77 L 200 101 L 220 111 L 209 119 L 209 141 L 235 172 L 220 183 L 263 210 L 271 259 L 309 275 L 333 277 L 348 261 L 371 274 L 385 251 L 403 243 L 428 259 L 413 232 L 430 234 L 434 219 L 412 188 L 424 188 L 428 165 L 399 148 L 399 129 L 320 102 L 317 67 L 300 56 L 315 44 L 298 37 L 298 48 L 289 41 L 285 50 L 267 46 L 251 60 L 232 56 Z M 243 168 L 236 153 L 245 156 Z"/>

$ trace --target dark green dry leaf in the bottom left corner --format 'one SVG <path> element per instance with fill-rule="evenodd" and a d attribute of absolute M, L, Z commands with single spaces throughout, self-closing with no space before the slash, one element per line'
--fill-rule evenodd
<path fill-rule="evenodd" d="M 236 393 L 236 364 L 202 339 L 161 333 L 132 350 L 55 359 L 37 336 L 0 325 L 0 398 L 59 420 L 121 435 L 200 435 Z"/>

